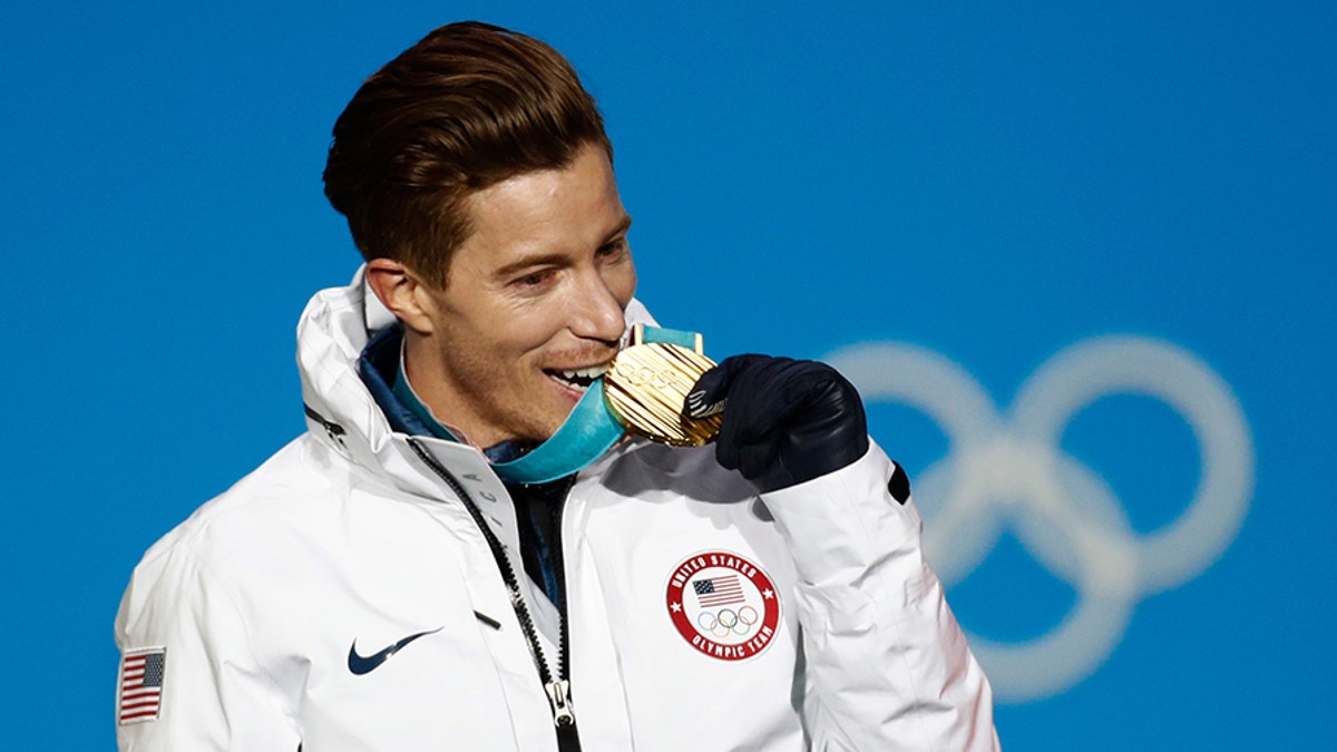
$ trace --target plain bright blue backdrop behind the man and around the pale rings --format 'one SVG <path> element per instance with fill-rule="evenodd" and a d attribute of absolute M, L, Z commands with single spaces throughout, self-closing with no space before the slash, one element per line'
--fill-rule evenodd
<path fill-rule="evenodd" d="M 0 27 L 5 747 L 114 739 L 111 622 L 143 550 L 302 430 L 293 326 L 357 256 L 321 194 L 362 78 L 441 23 L 551 41 L 599 98 L 660 321 L 719 357 L 915 343 L 1005 407 L 1098 335 L 1173 343 L 1257 454 L 1219 561 L 1108 660 L 1000 702 L 1011 749 L 1332 748 L 1337 246 L 1332 3 L 182 3 Z M 912 474 L 948 448 L 870 404 Z M 1134 529 L 1194 435 L 1115 396 L 1064 450 Z M 929 521 L 932 525 L 932 521 Z M 1004 537 L 951 590 L 973 634 L 1076 598 Z"/>

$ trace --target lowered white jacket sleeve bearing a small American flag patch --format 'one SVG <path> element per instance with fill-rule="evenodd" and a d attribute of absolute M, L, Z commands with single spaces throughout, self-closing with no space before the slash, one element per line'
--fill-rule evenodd
<path fill-rule="evenodd" d="M 126 656 L 163 654 L 152 678 L 160 689 L 156 713 L 127 713 L 126 678 L 118 677 L 122 752 L 298 749 L 294 713 L 251 654 L 235 601 L 182 542 L 151 550 L 135 569 L 115 632 L 122 673 Z"/>

